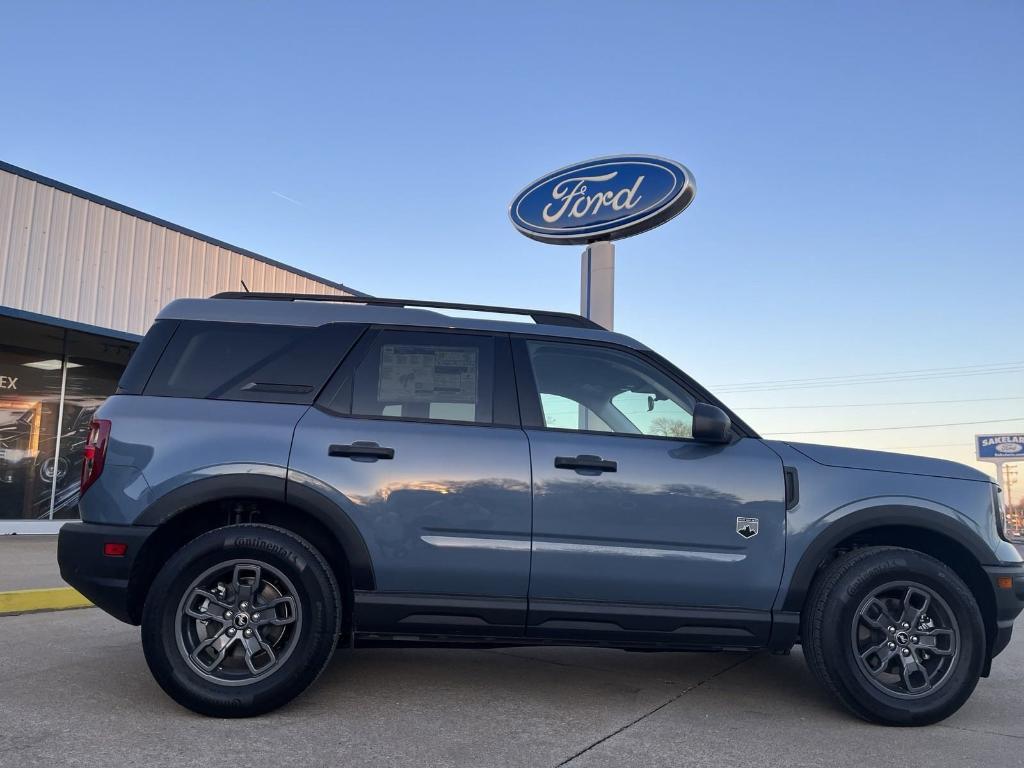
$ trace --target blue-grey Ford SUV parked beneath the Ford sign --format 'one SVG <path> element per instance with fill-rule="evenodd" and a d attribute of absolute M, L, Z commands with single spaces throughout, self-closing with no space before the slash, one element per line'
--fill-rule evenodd
<path fill-rule="evenodd" d="M 800 642 L 852 713 L 922 725 L 1024 600 L 986 475 L 762 439 L 578 315 L 178 300 L 95 417 L 60 572 L 206 715 L 280 707 L 337 645 Z"/>

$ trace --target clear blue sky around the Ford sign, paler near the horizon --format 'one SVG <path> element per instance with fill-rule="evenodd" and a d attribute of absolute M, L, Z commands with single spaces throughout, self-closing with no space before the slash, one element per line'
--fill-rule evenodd
<path fill-rule="evenodd" d="M 3 160 L 378 295 L 575 310 L 580 249 L 513 195 L 679 160 L 616 330 L 764 433 L 1022 417 L 790 435 L 970 462 L 1024 431 L 1016 0 L 5 3 L 0 73 Z"/>

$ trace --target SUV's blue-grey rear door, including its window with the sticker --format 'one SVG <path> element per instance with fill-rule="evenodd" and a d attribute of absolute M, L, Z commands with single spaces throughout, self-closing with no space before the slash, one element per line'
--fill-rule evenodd
<path fill-rule="evenodd" d="M 367 545 L 360 632 L 518 635 L 529 580 L 529 449 L 505 335 L 371 329 L 299 422 L 296 484 Z"/>

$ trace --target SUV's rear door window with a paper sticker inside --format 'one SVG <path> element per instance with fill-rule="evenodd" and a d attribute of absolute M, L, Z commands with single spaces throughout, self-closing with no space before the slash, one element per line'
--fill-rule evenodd
<path fill-rule="evenodd" d="M 495 423 L 495 339 L 382 331 L 352 378 L 353 416 Z"/>

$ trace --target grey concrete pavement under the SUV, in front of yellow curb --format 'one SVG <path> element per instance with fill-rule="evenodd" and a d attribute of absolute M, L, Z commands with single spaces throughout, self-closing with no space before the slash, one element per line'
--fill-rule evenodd
<path fill-rule="evenodd" d="M 871 726 L 790 656 L 587 648 L 339 653 L 255 720 L 177 707 L 137 628 L 0 616 L 0 766 L 1024 766 L 1024 626 L 946 722 Z"/>

